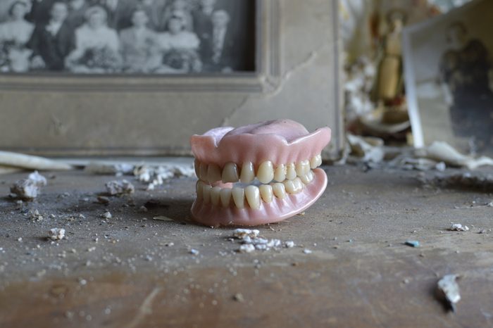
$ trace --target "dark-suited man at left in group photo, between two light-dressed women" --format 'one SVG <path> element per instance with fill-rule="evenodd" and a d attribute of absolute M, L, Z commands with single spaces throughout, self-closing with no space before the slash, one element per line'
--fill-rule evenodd
<path fill-rule="evenodd" d="M 74 46 L 74 32 L 67 17 L 68 5 L 64 1 L 56 1 L 48 23 L 35 27 L 29 42 L 32 69 L 65 69 L 65 57 Z"/>

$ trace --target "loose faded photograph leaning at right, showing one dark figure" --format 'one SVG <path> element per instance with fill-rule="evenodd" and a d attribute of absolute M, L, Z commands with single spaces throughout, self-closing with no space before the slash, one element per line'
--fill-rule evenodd
<path fill-rule="evenodd" d="M 404 31 L 416 146 L 493 153 L 493 1 L 472 1 Z"/>

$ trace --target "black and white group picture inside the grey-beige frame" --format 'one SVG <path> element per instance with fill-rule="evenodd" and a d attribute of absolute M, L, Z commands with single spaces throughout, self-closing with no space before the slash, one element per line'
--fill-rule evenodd
<path fill-rule="evenodd" d="M 0 72 L 255 71 L 256 1 L 1 0 Z"/>

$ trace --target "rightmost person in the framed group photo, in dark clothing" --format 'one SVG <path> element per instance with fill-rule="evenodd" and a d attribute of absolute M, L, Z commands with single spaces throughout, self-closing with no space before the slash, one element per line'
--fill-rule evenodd
<path fill-rule="evenodd" d="M 235 38 L 230 30 L 230 15 L 223 9 L 214 11 L 212 36 L 201 48 L 204 67 L 213 72 L 235 70 Z"/>

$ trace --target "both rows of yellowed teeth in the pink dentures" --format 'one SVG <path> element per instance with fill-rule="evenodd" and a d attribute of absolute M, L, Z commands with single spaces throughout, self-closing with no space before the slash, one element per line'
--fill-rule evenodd
<path fill-rule="evenodd" d="M 198 198 L 213 206 L 258 209 L 261 201 L 270 203 L 273 197 L 284 199 L 286 194 L 298 194 L 313 179 L 313 169 L 322 164 L 320 154 L 310 160 L 274 166 L 270 160 L 260 165 L 245 162 L 241 165 L 226 163 L 223 168 L 217 164 L 201 163 L 195 160 L 195 172 L 199 177 L 196 184 Z M 240 182 L 248 186 L 229 187 L 228 184 Z M 223 184 L 225 187 L 215 186 Z M 231 202 L 232 200 L 232 202 Z M 245 202 L 246 200 L 246 202 Z"/>

